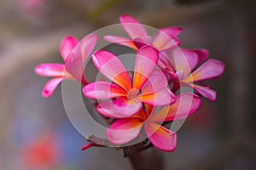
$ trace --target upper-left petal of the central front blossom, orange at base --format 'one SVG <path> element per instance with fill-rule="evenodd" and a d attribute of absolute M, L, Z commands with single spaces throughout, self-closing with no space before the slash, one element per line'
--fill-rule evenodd
<path fill-rule="evenodd" d="M 131 89 L 131 80 L 125 66 L 122 62 L 112 53 L 108 51 L 97 51 L 93 54 L 92 60 L 105 77 L 108 77 L 112 82 L 117 83 L 126 91 Z"/>

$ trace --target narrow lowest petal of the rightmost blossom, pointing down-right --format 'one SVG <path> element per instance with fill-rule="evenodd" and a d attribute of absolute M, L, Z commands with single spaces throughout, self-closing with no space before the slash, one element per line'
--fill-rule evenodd
<path fill-rule="evenodd" d="M 217 97 L 217 93 L 216 91 L 212 90 L 211 88 L 206 88 L 206 87 L 202 87 L 196 84 L 191 84 L 189 83 L 189 85 L 192 88 L 195 88 L 195 90 L 201 94 L 202 96 L 204 96 L 206 99 L 209 99 L 210 101 L 214 101 Z"/>

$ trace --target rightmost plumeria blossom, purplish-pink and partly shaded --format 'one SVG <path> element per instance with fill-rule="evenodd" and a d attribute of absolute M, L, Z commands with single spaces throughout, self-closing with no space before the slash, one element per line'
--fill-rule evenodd
<path fill-rule="evenodd" d="M 216 91 L 209 87 L 195 84 L 207 79 L 219 77 L 224 72 L 224 63 L 217 59 L 208 59 L 200 65 L 209 52 L 206 49 L 171 49 L 163 52 L 161 65 L 174 80 L 174 86 L 185 85 L 194 88 L 199 94 L 214 101 Z M 167 56 L 167 57 L 166 57 Z M 195 69 L 196 65 L 200 65 Z"/>

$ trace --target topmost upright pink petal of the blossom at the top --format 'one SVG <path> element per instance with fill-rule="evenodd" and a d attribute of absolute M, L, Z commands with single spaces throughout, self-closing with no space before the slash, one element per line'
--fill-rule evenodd
<path fill-rule="evenodd" d="M 123 26 L 123 28 L 127 32 L 127 34 L 132 39 L 134 39 L 136 37 L 144 37 L 144 36 L 148 35 L 147 31 L 145 30 L 143 25 L 140 24 L 139 21 L 137 21 L 136 19 L 134 19 L 130 15 L 123 14 L 122 16 L 120 16 L 119 20 L 120 20 L 121 25 Z"/>

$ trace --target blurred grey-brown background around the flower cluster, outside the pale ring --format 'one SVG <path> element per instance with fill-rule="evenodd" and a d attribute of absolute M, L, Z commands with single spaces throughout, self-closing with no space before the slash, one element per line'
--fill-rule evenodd
<path fill-rule="evenodd" d="M 122 150 L 92 148 L 69 122 L 61 87 L 41 97 L 48 78 L 34 67 L 62 62 L 63 37 L 80 39 L 131 14 L 148 26 L 182 26 L 183 48 L 207 48 L 226 70 L 207 100 L 178 131 L 177 150 L 162 169 L 256 169 L 256 1 L 254 0 L 1 0 L 0 170 L 132 169 Z M 254 88 L 253 88 L 254 87 Z"/>

